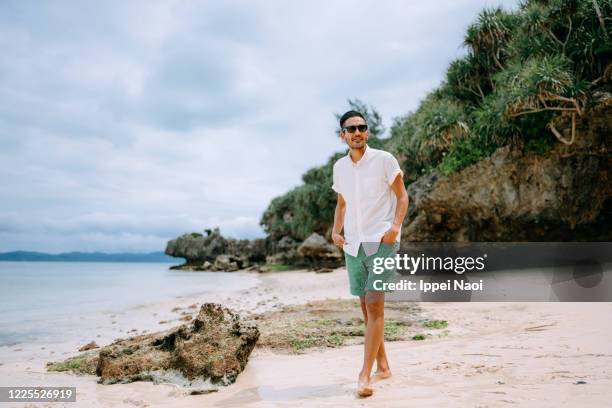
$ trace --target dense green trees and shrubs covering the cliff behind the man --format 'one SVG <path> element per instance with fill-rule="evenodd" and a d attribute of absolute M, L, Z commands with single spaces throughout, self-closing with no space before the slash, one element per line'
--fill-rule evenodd
<path fill-rule="evenodd" d="M 483 10 L 464 37 L 466 55 L 453 61 L 443 83 L 414 112 L 396 118 L 390 137 L 380 114 L 359 100 L 372 129 L 370 146 L 393 153 L 405 180 L 438 171 L 450 175 L 506 145 L 545 154 L 563 137 L 554 118 L 575 124 L 592 90 L 612 76 L 611 0 L 527 0 L 518 10 Z M 309 170 L 303 184 L 272 200 L 261 224 L 273 240 L 331 227 L 336 153 Z"/>

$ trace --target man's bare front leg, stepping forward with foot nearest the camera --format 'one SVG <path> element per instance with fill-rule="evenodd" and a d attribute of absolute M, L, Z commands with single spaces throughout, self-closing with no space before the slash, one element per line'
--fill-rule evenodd
<path fill-rule="evenodd" d="M 359 373 L 358 392 L 361 396 L 369 396 L 373 392 L 370 387 L 370 373 L 384 335 L 385 293 L 379 291 L 366 292 L 365 307 L 368 314 L 368 323 L 365 333 L 363 366 Z"/>

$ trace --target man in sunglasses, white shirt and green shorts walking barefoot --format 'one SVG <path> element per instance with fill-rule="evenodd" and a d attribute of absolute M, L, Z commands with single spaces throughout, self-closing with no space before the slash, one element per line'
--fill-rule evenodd
<path fill-rule="evenodd" d="M 368 147 L 368 125 L 360 112 L 342 115 L 340 128 L 349 154 L 334 164 L 332 188 L 338 198 L 332 239 L 344 250 L 350 291 L 361 303 L 366 330 L 357 393 L 368 397 L 373 394 L 370 373 L 374 360 L 375 379 L 391 376 L 383 341 L 385 293 L 375 290 L 380 289 L 375 281 L 389 280 L 395 272 L 393 268 L 375 274 L 372 265 L 376 257 L 395 257 L 408 193 L 395 157 Z"/>

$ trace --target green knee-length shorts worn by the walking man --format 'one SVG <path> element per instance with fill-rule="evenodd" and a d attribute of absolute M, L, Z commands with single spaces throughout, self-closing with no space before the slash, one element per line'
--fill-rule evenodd
<path fill-rule="evenodd" d="M 368 291 L 393 292 L 383 288 L 383 283 L 393 282 L 395 262 L 387 261 L 385 265 L 385 259 L 395 258 L 396 247 L 397 244 L 380 243 L 375 254 L 366 256 L 363 245 L 359 245 L 357 256 L 344 253 L 352 295 L 365 296 Z M 393 266 L 388 267 L 390 264 Z"/>

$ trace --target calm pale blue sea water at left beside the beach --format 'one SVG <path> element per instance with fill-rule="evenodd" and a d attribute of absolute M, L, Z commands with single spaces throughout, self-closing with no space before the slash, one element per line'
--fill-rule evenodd
<path fill-rule="evenodd" d="M 246 273 L 170 270 L 167 263 L 0 262 L 0 346 L 61 339 L 83 318 L 178 296 L 231 294 Z"/>

